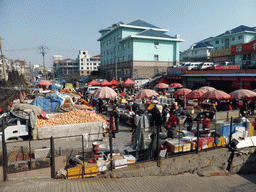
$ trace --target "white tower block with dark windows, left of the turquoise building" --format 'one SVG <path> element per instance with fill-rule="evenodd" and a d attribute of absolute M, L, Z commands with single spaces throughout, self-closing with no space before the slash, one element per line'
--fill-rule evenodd
<path fill-rule="evenodd" d="M 100 55 L 91 57 L 88 51 L 79 51 L 78 55 L 80 76 L 90 75 L 92 71 L 98 71 Z"/>

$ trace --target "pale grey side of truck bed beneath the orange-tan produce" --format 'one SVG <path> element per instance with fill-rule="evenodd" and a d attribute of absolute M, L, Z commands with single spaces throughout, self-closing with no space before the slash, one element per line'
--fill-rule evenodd
<path fill-rule="evenodd" d="M 40 127 L 37 130 L 37 138 L 46 139 L 50 137 L 66 137 L 72 135 L 83 135 L 85 133 L 97 134 L 91 135 L 90 141 L 102 140 L 103 122 Z"/>

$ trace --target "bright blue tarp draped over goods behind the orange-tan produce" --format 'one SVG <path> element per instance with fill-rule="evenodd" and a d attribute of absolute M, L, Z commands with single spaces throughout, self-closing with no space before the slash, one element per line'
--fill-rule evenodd
<path fill-rule="evenodd" d="M 32 105 L 38 106 L 41 110 L 56 111 L 60 108 L 62 99 L 55 94 L 47 94 L 45 97 L 37 97 L 32 101 Z"/>

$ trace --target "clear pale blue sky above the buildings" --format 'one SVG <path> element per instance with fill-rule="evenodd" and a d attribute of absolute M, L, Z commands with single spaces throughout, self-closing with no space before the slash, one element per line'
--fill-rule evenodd
<path fill-rule="evenodd" d="M 180 35 L 184 51 L 193 43 L 240 25 L 256 26 L 255 0 L 0 0 L 3 54 L 43 66 L 39 47 L 76 59 L 79 50 L 100 54 L 100 29 L 137 19 Z"/>

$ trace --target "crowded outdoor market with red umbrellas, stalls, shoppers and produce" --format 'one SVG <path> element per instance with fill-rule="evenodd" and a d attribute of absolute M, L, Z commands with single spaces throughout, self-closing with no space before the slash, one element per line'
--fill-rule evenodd
<path fill-rule="evenodd" d="M 136 86 L 129 78 L 124 82 L 92 80 L 87 89 L 76 91 L 52 86 L 46 80 L 37 84 L 37 92 L 24 92 L 2 114 L 9 122 L 5 140 L 82 135 L 92 155 L 87 159 L 84 155 L 69 158 L 65 170 L 56 170 L 60 177 L 80 177 L 77 175 L 84 163 L 93 172 L 88 175 L 96 176 L 94 172 L 145 160 L 227 146 L 256 146 L 256 121 L 248 118 L 255 112 L 255 90 L 238 89 L 228 94 L 209 86 L 191 90 L 179 83 L 161 82 L 148 89 Z M 97 89 L 90 93 L 89 87 Z M 25 120 L 22 134 L 21 130 L 17 134 L 8 132 L 14 125 L 18 128 L 13 119 L 20 124 Z M 120 124 L 130 127 L 132 136 L 129 145 L 115 147 L 113 139 L 118 137 Z M 49 152 L 50 148 L 34 153 L 42 150 Z"/>

